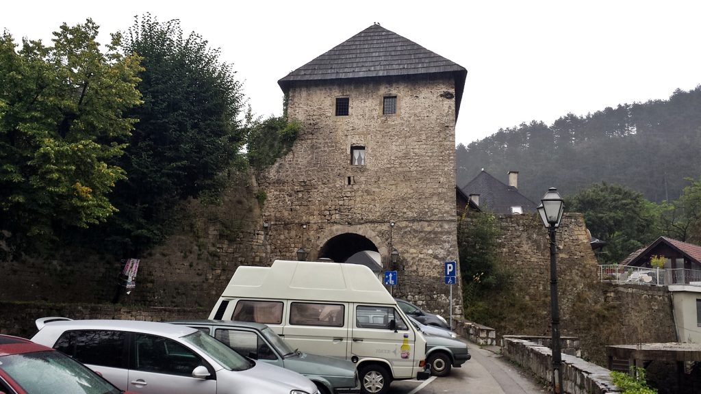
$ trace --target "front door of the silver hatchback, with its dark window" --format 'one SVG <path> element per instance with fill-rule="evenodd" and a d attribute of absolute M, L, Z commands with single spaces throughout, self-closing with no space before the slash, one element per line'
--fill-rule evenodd
<path fill-rule="evenodd" d="M 192 377 L 193 369 L 207 366 L 197 353 L 156 335 L 133 334 L 132 338 L 128 390 L 142 394 L 217 393 L 216 379 Z"/>

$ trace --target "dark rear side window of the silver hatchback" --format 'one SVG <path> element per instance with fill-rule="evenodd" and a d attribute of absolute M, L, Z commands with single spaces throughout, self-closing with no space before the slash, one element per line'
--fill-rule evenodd
<path fill-rule="evenodd" d="M 67 331 L 53 347 L 83 364 L 124 368 L 125 339 L 119 331 Z"/>

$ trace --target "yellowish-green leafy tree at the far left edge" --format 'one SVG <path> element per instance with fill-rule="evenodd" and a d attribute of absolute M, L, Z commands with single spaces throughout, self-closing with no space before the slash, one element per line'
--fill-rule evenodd
<path fill-rule="evenodd" d="M 139 57 L 120 36 L 100 49 L 98 26 L 62 25 L 53 46 L 0 37 L 0 229 L 9 242 L 43 243 L 107 220 L 139 104 Z M 19 48 L 19 50 L 18 50 Z"/>

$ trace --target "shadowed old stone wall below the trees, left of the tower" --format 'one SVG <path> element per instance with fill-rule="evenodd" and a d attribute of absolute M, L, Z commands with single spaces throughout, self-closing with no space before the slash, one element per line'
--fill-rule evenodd
<path fill-rule="evenodd" d="M 137 287 L 120 304 L 212 308 L 238 266 L 267 262 L 256 192 L 255 182 L 243 177 L 232 179 L 222 205 L 184 203 L 174 220 L 179 228 L 163 245 L 135 256 Z M 122 268 L 90 250 L 0 261 L 0 301 L 109 303 Z"/>

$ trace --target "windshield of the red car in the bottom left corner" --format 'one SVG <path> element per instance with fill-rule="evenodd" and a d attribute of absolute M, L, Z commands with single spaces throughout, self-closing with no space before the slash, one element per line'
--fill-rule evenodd
<path fill-rule="evenodd" d="M 28 394 L 119 394 L 95 372 L 57 351 L 0 357 L 0 369 Z"/>

